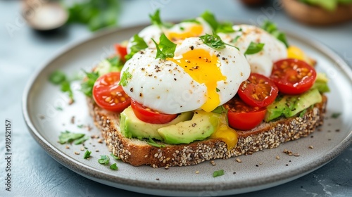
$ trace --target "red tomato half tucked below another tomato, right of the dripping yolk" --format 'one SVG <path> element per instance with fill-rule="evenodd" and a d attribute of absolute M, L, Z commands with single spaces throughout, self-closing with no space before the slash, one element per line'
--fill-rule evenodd
<path fill-rule="evenodd" d="M 266 108 L 253 108 L 237 96 L 224 104 L 227 111 L 229 125 L 233 129 L 250 130 L 263 121 Z"/>

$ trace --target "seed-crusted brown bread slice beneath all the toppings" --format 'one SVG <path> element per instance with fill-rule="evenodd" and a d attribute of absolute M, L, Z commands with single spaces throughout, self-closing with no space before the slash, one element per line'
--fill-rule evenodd
<path fill-rule="evenodd" d="M 196 165 L 206 160 L 249 155 L 265 148 L 276 148 L 285 141 L 308 136 L 322 125 L 327 97 L 322 96 L 322 102 L 309 108 L 301 117 L 263 122 L 250 131 L 237 131 L 239 141 L 237 147 L 231 150 L 228 150 L 225 142 L 220 139 L 207 139 L 180 145 L 164 144 L 163 148 L 151 146 L 143 140 L 128 139 L 120 132 L 118 113 L 99 108 L 91 98 L 87 98 L 87 101 L 94 124 L 101 130 L 109 151 L 134 166 L 164 167 Z"/>

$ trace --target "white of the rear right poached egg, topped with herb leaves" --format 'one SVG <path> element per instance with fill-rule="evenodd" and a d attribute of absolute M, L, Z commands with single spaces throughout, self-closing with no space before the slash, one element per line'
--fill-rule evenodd
<path fill-rule="evenodd" d="M 246 52 L 251 42 L 265 44 L 262 51 L 246 55 L 251 65 L 251 72 L 269 77 L 272 72 L 272 63 L 287 58 L 286 46 L 265 30 L 253 25 L 234 25 L 232 28 L 235 30 L 234 33 L 219 33 L 219 36 L 225 43 L 237 46 L 241 53 Z M 237 41 L 234 42 L 237 37 Z"/>

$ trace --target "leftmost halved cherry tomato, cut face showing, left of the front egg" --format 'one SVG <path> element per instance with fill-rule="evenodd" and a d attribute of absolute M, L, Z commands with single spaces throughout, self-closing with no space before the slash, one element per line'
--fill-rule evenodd
<path fill-rule="evenodd" d="M 98 106 L 118 113 L 130 106 L 131 98 L 123 91 L 119 82 L 120 72 L 109 72 L 96 80 L 93 98 Z"/>

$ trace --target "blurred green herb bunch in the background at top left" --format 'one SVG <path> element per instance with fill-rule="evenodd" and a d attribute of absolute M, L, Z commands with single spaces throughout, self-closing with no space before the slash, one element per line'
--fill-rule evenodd
<path fill-rule="evenodd" d="M 68 23 L 82 23 L 88 25 L 89 30 L 96 31 L 103 27 L 117 25 L 120 11 L 118 0 L 84 0 L 76 1 L 68 6 Z"/>

